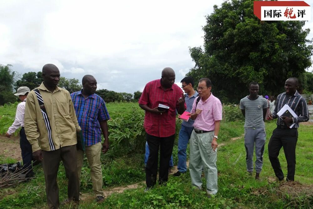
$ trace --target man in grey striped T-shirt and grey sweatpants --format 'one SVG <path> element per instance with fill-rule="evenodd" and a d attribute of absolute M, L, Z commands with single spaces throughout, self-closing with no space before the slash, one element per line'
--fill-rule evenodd
<path fill-rule="evenodd" d="M 240 109 L 245 117 L 244 121 L 244 147 L 246 148 L 247 171 L 253 172 L 253 152 L 255 145 L 255 179 L 259 179 L 263 165 L 263 152 L 265 144 L 265 115 L 268 103 L 260 97 L 259 84 L 249 83 L 250 94 L 240 100 Z"/>

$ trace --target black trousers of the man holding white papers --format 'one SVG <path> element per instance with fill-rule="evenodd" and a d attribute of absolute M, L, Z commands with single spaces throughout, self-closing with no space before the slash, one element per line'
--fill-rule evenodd
<path fill-rule="evenodd" d="M 284 173 L 281 170 L 278 155 L 281 147 L 284 148 L 285 157 L 287 161 L 287 181 L 295 180 L 295 147 L 298 141 L 298 129 L 288 128 L 279 129 L 276 128 L 273 131 L 271 139 L 269 140 L 269 161 L 272 164 L 276 177 L 279 180 L 284 179 Z"/>

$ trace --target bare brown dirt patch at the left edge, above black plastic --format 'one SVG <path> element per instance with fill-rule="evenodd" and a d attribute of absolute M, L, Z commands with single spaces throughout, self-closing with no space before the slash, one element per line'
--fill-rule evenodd
<path fill-rule="evenodd" d="M 4 135 L 0 135 L 0 155 L 4 158 L 10 157 L 17 161 L 22 161 L 19 136 L 7 138 Z"/>

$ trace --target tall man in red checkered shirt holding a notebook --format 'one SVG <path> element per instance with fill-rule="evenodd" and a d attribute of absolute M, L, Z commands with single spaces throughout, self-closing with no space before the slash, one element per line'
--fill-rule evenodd
<path fill-rule="evenodd" d="M 175 82 L 175 72 L 166 67 L 161 79 L 148 82 L 139 99 L 139 106 L 146 111 L 144 127 L 150 149 L 146 165 L 146 189 L 156 184 L 158 152 L 160 147 L 159 184 L 167 182 L 168 165 L 175 139 L 176 110 L 182 114 L 186 109 L 182 89 Z M 169 107 L 159 110 L 159 104 Z"/>

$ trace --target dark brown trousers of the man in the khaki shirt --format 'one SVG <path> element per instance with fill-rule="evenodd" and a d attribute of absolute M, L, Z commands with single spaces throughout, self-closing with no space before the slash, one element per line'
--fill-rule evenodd
<path fill-rule="evenodd" d="M 77 176 L 77 152 L 76 145 L 61 147 L 54 151 L 42 151 L 44 168 L 44 180 L 49 208 L 59 208 L 59 187 L 57 175 L 59 164 L 62 160 L 66 177 L 69 179 L 67 194 L 69 200 L 79 201 L 79 179 Z"/>

